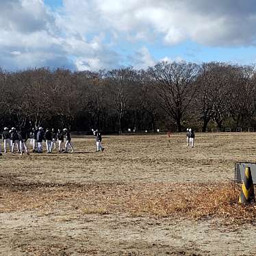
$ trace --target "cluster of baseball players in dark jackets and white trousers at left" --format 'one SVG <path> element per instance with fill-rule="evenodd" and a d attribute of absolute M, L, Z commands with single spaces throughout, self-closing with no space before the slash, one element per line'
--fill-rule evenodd
<path fill-rule="evenodd" d="M 66 138 L 65 144 L 64 137 Z M 53 149 L 56 149 L 56 143 L 58 143 L 58 151 L 60 153 L 68 153 L 69 148 L 71 149 L 71 153 L 74 152 L 74 148 L 71 143 L 71 133 L 66 128 L 63 130 L 58 129 L 57 132 L 55 132 L 55 129 L 47 128 L 44 131 L 42 127 L 35 127 L 29 132 L 26 129 L 18 129 L 17 131 L 15 127 L 12 127 L 12 129 L 5 127 L 2 133 L 4 153 L 7 153 L 8 148 L 10 152 L 14 153 L 14 149 L 16 147 L 16 151 L 21 153 L 21 155 L 23 153 L 27 153 L 27 155 L 29 155 L 29 149 L 27 146 L 27 140 L 29 138 L 34 153 L 42 153 L 43 142 L 46 144 L 47 153 L 51 153 Z"/>

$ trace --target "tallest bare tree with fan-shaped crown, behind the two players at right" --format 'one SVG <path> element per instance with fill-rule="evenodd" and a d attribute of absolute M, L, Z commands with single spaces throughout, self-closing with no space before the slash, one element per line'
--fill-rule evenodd
<path fill-rule="evenodd" d="M 185 62 L 159 62 L 149 68 L 148 72 L 153 84 L 157 84 L 157 101 L 160 107 L 175 121 L 177 131 L 181 131 L 183 115 L 196 93 L 194 81 L 199 66 Z"/>

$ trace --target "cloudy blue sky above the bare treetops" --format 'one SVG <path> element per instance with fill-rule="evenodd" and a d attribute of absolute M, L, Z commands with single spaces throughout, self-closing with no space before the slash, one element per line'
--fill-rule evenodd
<path fill-rule="evenodd" d="M 0 67 L 256 62 L 254 0 L 0 0 Z"/>

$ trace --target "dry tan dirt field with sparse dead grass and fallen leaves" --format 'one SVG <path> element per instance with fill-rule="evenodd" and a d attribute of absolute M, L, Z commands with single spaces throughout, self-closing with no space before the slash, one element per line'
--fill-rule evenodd
<path fill-rule="evenodd" d="M 256 255 L 252 217 L 195 212 L 236 161 L 256 162 L 256 133 L 196 133 L 194 149 L 185 133 L 73 144 L 0 157 L 0 255 Z"/>

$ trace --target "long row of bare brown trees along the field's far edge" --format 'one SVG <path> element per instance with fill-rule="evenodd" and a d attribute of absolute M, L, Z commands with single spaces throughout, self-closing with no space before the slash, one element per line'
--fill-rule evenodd
<path fill-rule="evenodd" d="M 146 70 L 0 70 L 0 129 L 207 131 L 255 127 L 255 66 L 159 62 Z"/>

